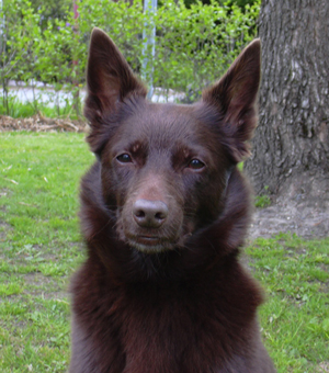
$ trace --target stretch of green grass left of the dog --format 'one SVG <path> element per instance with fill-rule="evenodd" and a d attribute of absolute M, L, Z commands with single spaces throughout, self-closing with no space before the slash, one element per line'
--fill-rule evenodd
<path fill-rule="evenodd" d="M 0 136 L 0 372 L 65 372 L 68 282 L 83 258 L 80 134 Z"/>

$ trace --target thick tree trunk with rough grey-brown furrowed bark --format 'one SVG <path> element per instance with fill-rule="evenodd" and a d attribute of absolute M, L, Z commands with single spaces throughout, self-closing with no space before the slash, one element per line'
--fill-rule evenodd
<path fill-rule="evenodd" d="M 329 206 L 329 1 L 263 0 L 254 190 Z"/>

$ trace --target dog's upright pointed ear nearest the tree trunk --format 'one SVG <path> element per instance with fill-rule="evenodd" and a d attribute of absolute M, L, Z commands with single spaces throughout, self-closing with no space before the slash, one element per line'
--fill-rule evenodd
<path fill-rule="evenodd" d="M 223 129 L 231 137 L 229 150 L 235 161 L 249 156 L 249 145 L 258 120 L 258 90 L 261 76 L 261 43 L 250 43 L 224 77 L 203 92 L 203 101 L 215 106 L 223 118 Z"/>

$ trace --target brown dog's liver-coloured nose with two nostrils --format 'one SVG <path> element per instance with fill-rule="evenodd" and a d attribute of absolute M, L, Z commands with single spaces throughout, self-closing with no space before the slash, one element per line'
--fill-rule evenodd
<path fill-rule="evenodd" d="M 168 216 L 168 206 L 162 201 L 137 200 L 133 215 L 140 227 L 159 228 Z"/>

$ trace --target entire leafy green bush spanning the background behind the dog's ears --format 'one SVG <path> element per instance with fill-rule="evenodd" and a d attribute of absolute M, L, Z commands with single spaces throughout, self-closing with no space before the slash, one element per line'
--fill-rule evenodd
<path fill-rule="evenodd" d="M 4 27 L 0 37 L 3 106 L 9 112 L 9 80 L 36 81 L 55 89 L 58 94 L 72 92 L 72 105 L 79 113 L 79 90 L 84 84 L 88 41 L 93 26 L 103 29 L 114 39 L 132 68 L 155 87 L 180 91 L 194 100 L 201 89 L 218 79 L 243 45 L 257 34 L 260 1 L 242 11 L 235 4 L 209 5 L 195 2 L 186 8 L 183 0 L 163 1 L 156 14 L 143 12 L 139 1 L 81 0 L 79 18 L 67 10 L 63 20 L 48 20 L 34 12 L 29 0 L 4 0 L 0 19 Z M 5 18 L 4 18 L 5 14 Z M 156 25 L 156 56 L 143 52 L 143 29 Z M 143 59 L 148 64 L 143 71 Z M 57 97 L 56 97 L 57 94 Z M 57 99 L 56 99 L 57 98 Z M 33 106 L 38 110 L 37 100 Z"/>

